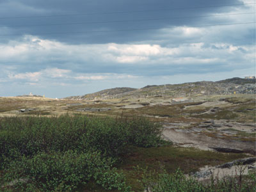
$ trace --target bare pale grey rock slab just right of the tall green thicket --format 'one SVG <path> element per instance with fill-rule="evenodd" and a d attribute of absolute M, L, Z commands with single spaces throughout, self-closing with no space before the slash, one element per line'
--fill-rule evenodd
<path fill-rule="evenodd" d="M 252 126 L 255 124 L 252 124 Z M 230 129 L 232 126 L 232 129 Z M 251 124 L 205 120 L 200 124 L 164 123 L 163 138 L 182 147 L 196 147 L 227 153 L 249 153 L 255 156 L 255 140 L 243 140 L 243 134 L 253 135 Z M 243 131 L 241 131 L 243 130 Z M 241 134 L 239 139 L 239 134 Z M 232 139 L 234 136 L 234 139 Z M 248 137 L 247 137 L 248 139 Z"/>

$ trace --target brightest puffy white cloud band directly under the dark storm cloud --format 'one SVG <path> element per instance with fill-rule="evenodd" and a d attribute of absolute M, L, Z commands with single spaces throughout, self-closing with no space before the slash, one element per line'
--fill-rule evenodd
<path fill-rule="evenodd" d="M 72 65 L 76 65 L 84 72 L 87 69 L 90 70 L 90 65 L 97 64 L 99 67 L 95 69 L 97 70 L 95 72 L 101 72 L 100 66 L 108 66 L 109 64 L 158 66 L 161 64 L 171 65 L 175 61 L 186 60 L 186 58 L 191 59 L 190 63 L 193 63 L 193 58 L 202 63 L 204 61 L 227 60 L 227 58 L 236 60 L 238 56 L 241 60 L 246 54 L 253 52 L 253 47 L 248 45 L 207 42 L 201 38 L 202 36 L 200 38 L 195 37 L 200 36 L 197 32 L 201 33 L 202 31 L 204 31 L 205 36 L 220 35 L 221 32 L 218 30 L 212 32 L 211 29 L 177 28 L 173 31 L 174 33 L 169 34 L 170 39 L 176 37 L 177 31 L 180 32 L 179 35 L 182 38 L 182 31 L 185 31 L 184 33 L 192 35 L 195 40 L 194 42 L 180 42 L 173 45 L 169 42 L 170 47 L 163 47 L 159 44 L 68 45 L 51 40 L 42 40 L 35 36 L 26 36 L 24 42 L 12 41 L 0 45 L 0 65 L 3 63 L 20 63 L 19 65 L 27 65 L 28 67 L 29 65 L 36 65 L 39 72 L 55 78 L 70 75 L 70 70 L 61 69 L 60 65 L 64 65 L 63 68 L 72 68 Z M 186 38 L 186 35 L 183 38 Z M 211 47 L 213 45 L 218 49 Z M 241 50 L 244 50 L 243 54 Z M 58 67 L 54 63 L 58 63 Z"/>

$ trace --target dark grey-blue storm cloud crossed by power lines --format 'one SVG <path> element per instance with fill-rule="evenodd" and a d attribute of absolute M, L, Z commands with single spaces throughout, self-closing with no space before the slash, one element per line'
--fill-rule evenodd
<path fill-rule="evenodd" d="M 1 1 L 1 18 L 15 17 L 13 19 L 0 19 L 2 35 L 36 35 L 45 39 L 54 39 L 68 44 L 83 43 L 127 43 L 150 40 L 156 31 L 115 31 L 125 29 L 143 28 L 170 28 L 172 26 L 191 26 L 223 23 L 228 19 L 211 20 L 202 18 L 175 19 L 175 17 L 195 17 L 198 15 L 211 15 L 212 13 L 227 13 L 237 6 L 218 6 L 227 4 L 241 4 L 239 0 L 216 0 L 216 1 L 170 1 L 170 0 L 122 0 L 122 1 Z M 208 7 L 207 6 L 215 6 Z M 204 8 L 196 8 L 204 7 Z M 239 6 L 241 7 L 241 6 Z M 242 6 L 243 7 L 243 6 Z M 180 9 L 175 9 L 180 8 Z M 167 10 L 170 9 L 170 10 Z M 140 12 L 141 10 L 151 10 Z M 159 11 L 153 11 L 159 10 Z M 138 11 L 138 12 L 137 12 Z M 117 12 L 117 13 L 116 13 Z M 99 13 L 92 15 L 76 15 L 83 13 Z M 73 16 L 71 16 L 73 14 Z M 60 17 L 29 17 L 42 15 L 70 15 Z M 20 17 L 20 18 L 19 18 Z M 149 19 L 149 20 L 147 20 Z M 150 20 L 165 19 L 165 20 Z M 143 20 L 129 22 L 111 22 L 116 20 Z M 81 23 L 86 24 L 70 24 Z M 91 23 L 88 23 L 91 22 Z M 108 23 L 92 23 L 108 22 Z M 52 26 L 31 26 L 47 24 Z M 12 27 L 13 26 L 13 27 Z M 18 27 L 19 26 L 19 27 Z M 104 33 L 73 33 L 79 31 L 112 31 Z M 48 33 L 48 35 L 43 35 Z M 54 34 L 66 33 L 66 34 Z M 0 34 L 0 35 L 1 35 Z M 0 36 L 3 42 L 6 39 L 17 39 L 19 36 Z"/>

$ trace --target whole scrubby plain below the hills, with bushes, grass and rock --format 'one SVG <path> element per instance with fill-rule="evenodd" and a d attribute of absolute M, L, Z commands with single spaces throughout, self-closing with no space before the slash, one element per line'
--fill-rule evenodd
<path fill-rule="evenodd" d="M 204 166 L 255 156 L 250 95 L 175 105 L 159 97 L 0 97 L 0 116 L 2 191 L 255 191 L 255 168 L 243 175 L 242 165 L 227 177 L 194 177 Z M 241 152 L 212 149 L 230 146 Z"/>

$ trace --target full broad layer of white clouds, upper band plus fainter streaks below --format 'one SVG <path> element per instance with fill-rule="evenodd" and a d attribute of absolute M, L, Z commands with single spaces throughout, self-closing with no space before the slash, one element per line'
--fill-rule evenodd
<path fill-rule="evenodd" d="M 177 27 L 162 30 L 166 39 L 178 42 L 172 44 L 166 40 L 166 45 L 161 45 L 161 42 L 68 45 L 36 36 L 25 36 L 20 42 L 0 44 L 1 77 L 7 74 L 6 79 L 10 81 L 23 79 L 30 83 L 115 81 L 136 79 L 148 74 L 152 76 L 154 68 L 154 76 L 162 76 L 164 68 L 179 74 L 188 65 L 191 68 L 200 65 L 204 71 L 214 70 L 214 65 L 225 70 L 229 66 L 229 71 L 241 68 L 241 63 L 246 64 L 244 67 L 250 67 L 255 58 L 253 45 L 232 44 L 214 39 L 223 31 L 225 34 L 230 33 L 229 36 L 239 36 L 241 33 L 231 33 L 234 29 L 237 26 L 202 29 Z M 185 41 L 179 41 L 179 38 Z M 140 66 L 140 71 L 137 66 Z M 23 70 L 27 68 L 27 72 L 19 72 L 19 67 Z M 29 71 L 30 67 L 33 67 L 33 71 Z M 125 67 L 125 71 L 122 67 Z"/>

